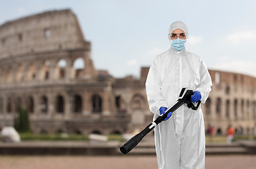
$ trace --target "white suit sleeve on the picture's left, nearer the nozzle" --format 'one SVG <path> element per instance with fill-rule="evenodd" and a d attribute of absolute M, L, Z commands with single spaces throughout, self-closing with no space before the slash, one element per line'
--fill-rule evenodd
<path fill-rule="evenodd" d="M 161 96 L 161 65 L 161 58 L 157 56 L 150 66 L 146 81 L 147 100 L 150 111 L 157 115 L 160 115 L 159 108 L 168 108 L 166 101 Z"/>

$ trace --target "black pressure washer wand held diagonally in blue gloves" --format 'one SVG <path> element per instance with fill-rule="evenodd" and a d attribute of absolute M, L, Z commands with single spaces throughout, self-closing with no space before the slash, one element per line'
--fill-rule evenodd
<path fill-rule="evenodd" d="M 150 123 L 150 125 L 147 125 L 142 132 L 139 134 L 136 134 L 134 137 L 129 139 L 123 146 L 120 147 L 120 151 L 122 154 L 128 154 L 135 146 L 139 144 L 139 142 L 147 135 L 147 133 L 151 132 L 154 127 L 156 127 L 159 123 L 161 123 L 168 115 L 168 113 L 173 113 L 173 111 L 176 111 L 179 107 L 181 107 L 183 104 L 187 104 L 188 108 L 192 108 L 193 110 L 197 110 L 197 108 L 200 106 L 201 101 L 197 102 L 197 106 L 195 106 L 192 101 L 190 101 L 191 96 L 193 95 L 192 90 L 188 90 L 186 88 L 183 88 L 181 90 L 181 94 L 179 95 L 179 99 L 171 106 L 171 108 L 167 109 L 164 114 L 160 115 L 154 122 Z"/>

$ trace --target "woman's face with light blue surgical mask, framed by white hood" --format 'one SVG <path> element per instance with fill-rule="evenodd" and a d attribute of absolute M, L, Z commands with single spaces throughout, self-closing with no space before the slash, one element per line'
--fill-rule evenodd
<path fill-rule="evenodd" d="M 185 47 L 186 37 L 185 32 L 181 29 L 173 30 L 173 32 L 170 35 L 171 39 L 171 46 L 176 51 L 182 51 L 182 49 Z"/>

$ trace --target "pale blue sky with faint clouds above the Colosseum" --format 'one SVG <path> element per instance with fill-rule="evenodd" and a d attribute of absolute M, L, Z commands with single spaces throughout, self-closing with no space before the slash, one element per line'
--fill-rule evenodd
<path fill-rule="evenodd" d="M 97 70 L 140 77 L 140 68 L 170 48 L 169 25 L 188 26 L 187 50 L 210 70 L 256 77 L 256 1 L 0 0 L 0 25 L 44 11 L 70 8 Z"/>

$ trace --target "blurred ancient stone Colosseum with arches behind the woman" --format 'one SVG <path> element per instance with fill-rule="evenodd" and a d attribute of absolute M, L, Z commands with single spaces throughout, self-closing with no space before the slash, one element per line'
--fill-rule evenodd
<path fill-rule="evenodd" d="M 75 63 L 83 63 L 75 68 Z M 30 113 L 35 134 L 123 134 L 152 122 L 145 80 L 114 78 L 96 70 L 91 44 L 71 10 L 48 11 L 0 26 L 0 130 L 13 125 L 18 106 Z M 252 133 L 256 78 L 209 70 L 212 92 L 202 110 L 205 129 L 226 134 L 228 125 Z"/>

